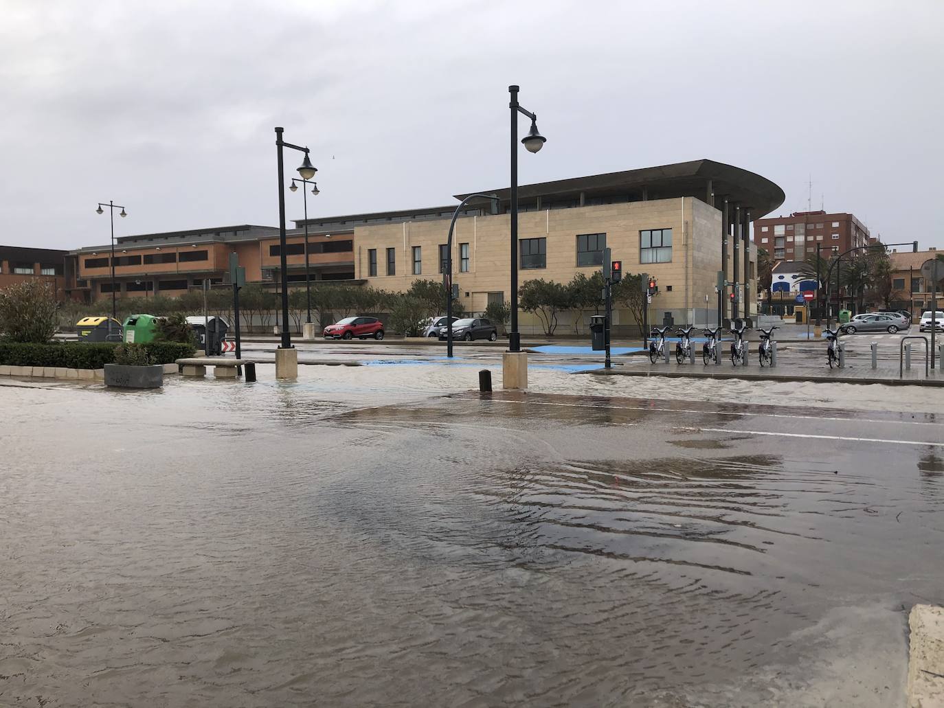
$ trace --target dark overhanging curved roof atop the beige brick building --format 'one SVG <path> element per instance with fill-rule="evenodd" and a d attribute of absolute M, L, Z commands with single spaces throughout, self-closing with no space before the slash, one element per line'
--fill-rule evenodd
<path fill-rule="evenodd" d="M 695 196 L 708 202 L 715 194 L 715 205 L 728 199 L 750 210 L 751 219 L 757 219 L 777 209 L 784 203 L 784 190 L 775 183 L 749 170 L 734 167 L 714 160 L 692 160 L 676 162 L 658 167 L 642 167 L 624 172 L 610 172 L 590 177 L 570 177 L 552 182 L 525 184 L 518 187 L 518 200 L 525 201 L 541 197 L 542 203 L 568 199 L 594 197 L 629 197 L 630 201 L 643 199 L 669 199 L 679 196 Z M 508 202 L 509 188 L 483 190 L 484 194 L 497 194 Z M 456 194 L 464 199 L 469 194 Z M 625 200 L 625 198 L 624 198 Z"/>

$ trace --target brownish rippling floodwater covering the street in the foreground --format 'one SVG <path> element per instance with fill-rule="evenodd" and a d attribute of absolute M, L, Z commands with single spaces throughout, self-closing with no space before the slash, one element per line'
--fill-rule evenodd
<path fill-rule="evenodd" d="M 0 705 L 903 704 L 924 392 L 477 371 L 0 385 Z"/>

